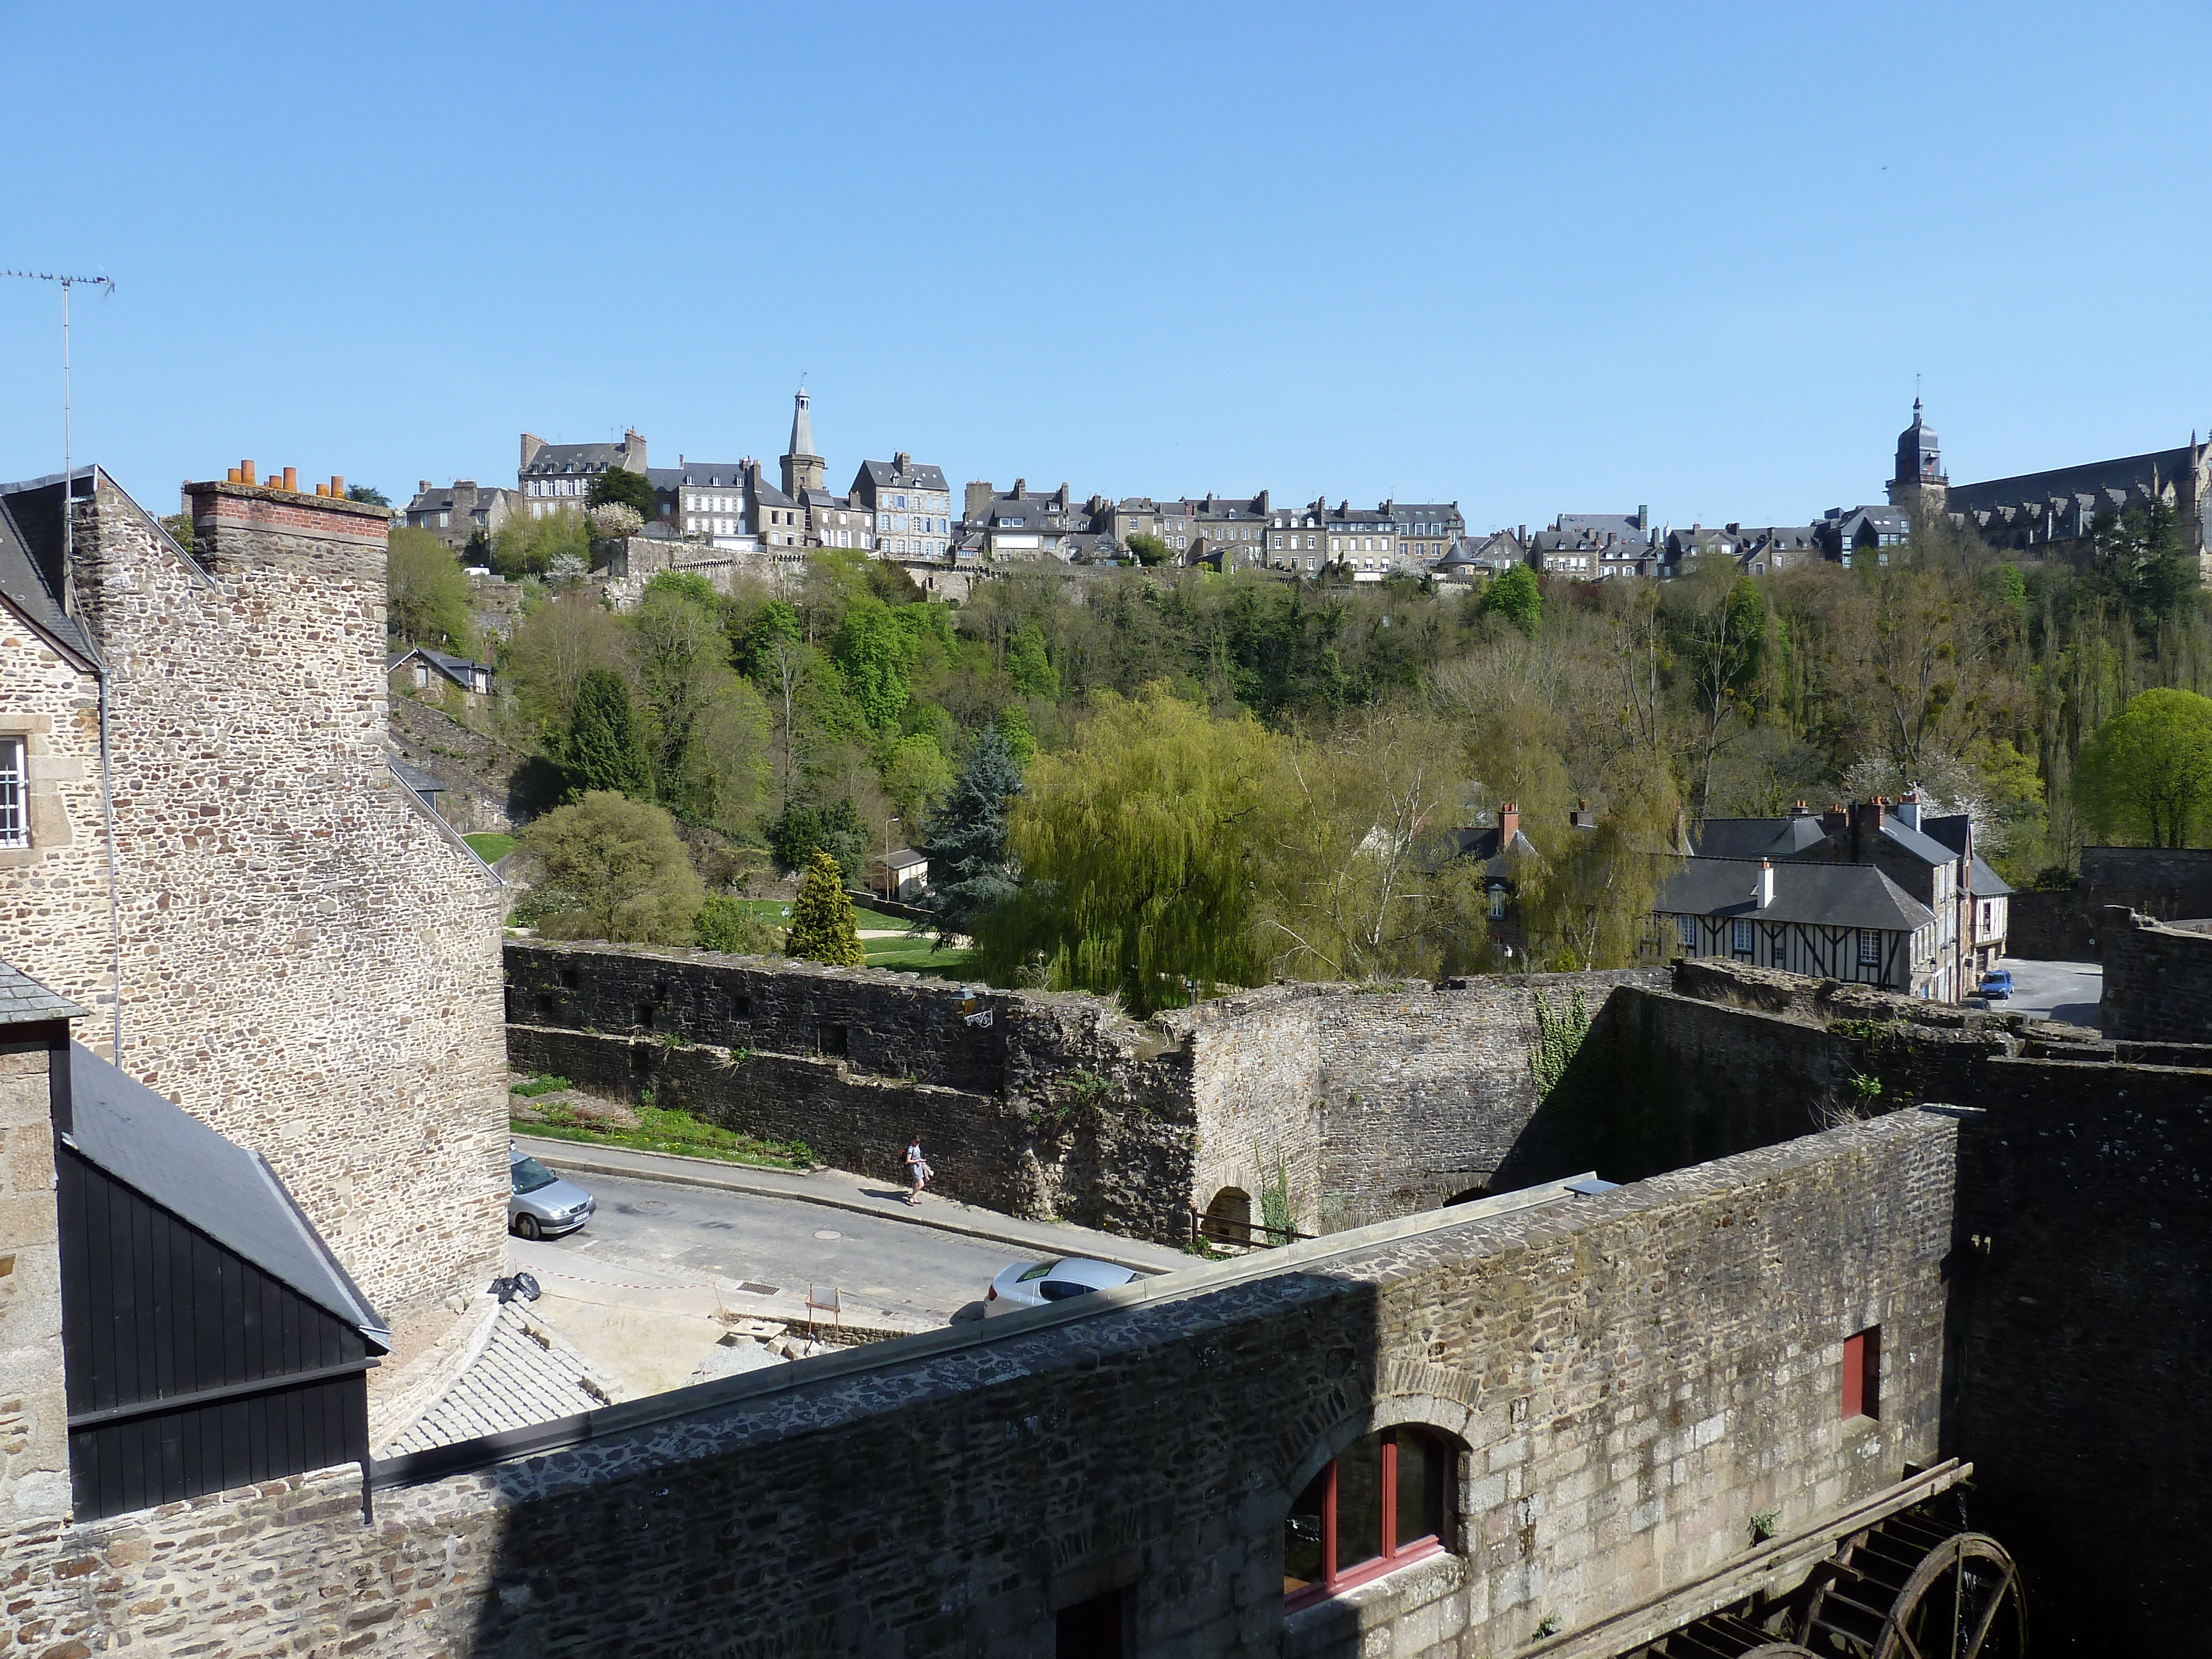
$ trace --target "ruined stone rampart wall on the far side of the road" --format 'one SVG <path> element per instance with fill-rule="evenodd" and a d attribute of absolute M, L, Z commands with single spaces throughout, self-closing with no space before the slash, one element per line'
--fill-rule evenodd
<path fill-rule="evenodd" d="M 1601 1031 L 1610 998 L 1666 975 L 1276 984 L 1148 1024 L 1099 998 L 708 951 L 511 942 L 507 978 L 518 1068 L 655 1082 L 885 1179 L 918 1128 L 956 1197 L 1179 1241 L 1225 1188 L 1254 1221 L 1276 1190 L 1303 1232 L 1486 1190 L 1537 1110 L 1535 998 Z M 1513 1168 L 1571 1172 L 1526 1148 Z"/>

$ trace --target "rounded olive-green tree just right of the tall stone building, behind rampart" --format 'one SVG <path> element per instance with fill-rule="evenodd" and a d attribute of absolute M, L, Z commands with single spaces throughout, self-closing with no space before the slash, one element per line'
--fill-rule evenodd
<path fill-rule="evenodd" d="M 544 867 L 553 938 L 686 945 L 706 898 L 675 818 L 644 801 L 591 790 L 520 836 Z"/>

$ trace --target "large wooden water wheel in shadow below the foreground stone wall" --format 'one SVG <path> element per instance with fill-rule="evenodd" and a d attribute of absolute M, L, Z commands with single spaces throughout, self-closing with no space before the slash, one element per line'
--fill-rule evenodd
<path fill-rule="evenodd" d="M 1816 1575 L 1798 1635 L 1816 1659 L 2024 1659 L 2028 1608 L 1997 1540 L 1905 1513 Z"/>

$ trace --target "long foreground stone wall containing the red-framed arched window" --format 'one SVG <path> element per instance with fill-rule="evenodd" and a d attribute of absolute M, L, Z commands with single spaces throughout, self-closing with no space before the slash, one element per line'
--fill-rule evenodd
<path fill-rule="evenodd" d="M 708 1385 L 380 1493 L 376 1526 L 330 1473 L 20 1531 L 0 1639 L 1044 1659 L 1060 1608 L 1121 1593 L 1141 1652 L 1509 1652 L 1739 1557 L 1754 1515 L 1794 1528 L 1940 1455 L 1955 1133 L 1905 1113 Z M 1880 1416 L 1845 1420 L 1869 1325 Z M 1290 1502 L 1405 1422 L 1453 1449 L 1447 1551 L 1285 1619 Z"/>

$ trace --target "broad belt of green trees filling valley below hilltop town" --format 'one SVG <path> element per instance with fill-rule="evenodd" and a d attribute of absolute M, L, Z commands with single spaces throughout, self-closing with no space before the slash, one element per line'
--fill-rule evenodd
<path fill-rule="evenodd" d="M 400 535 L 394 626 L 467 648 L 458 568 Z M 1513 571 L 1460 597 L 1018 568 L 953 608 L 825 551 L 737 595 L 661 575 L 622 615 L 575 580 L 577 538 L 495 549 L 551 580 L 529 577 L 482 719 L 544 757 L 551 799 L 666 814 L 699 887 L 670 876 L 675 896 L 624 911 L 611 860 L 586 883 L 633 936 L 688 940 L 714 896 L 708 931 L 759 940 L 728 931 L 748 878 L 827 858 L 865 885 L 869 854 L 911 843 L 936 931 L 973 942 L 960 971 L 1148 1011 L 1272 975 L 1506 967 L 1482 869 L 1455 856 L 1504 803 L 1535 847 L 1513 869 L 1517 969 L 1635 960 L 1701 818 L 1918 785 L 1973 814 L 2015 885 L 2064 883 L 2086 838 L 2212 834 L 2212 626 L 2163 509 L 2077 562 L 1938 522 L 1860 568 Z"/>

